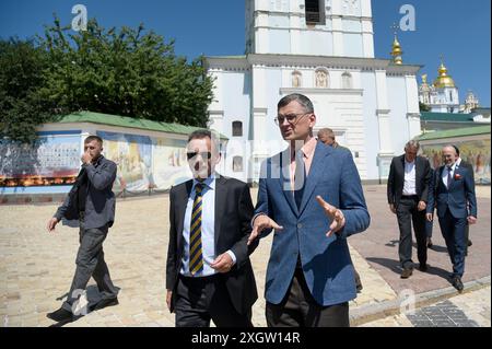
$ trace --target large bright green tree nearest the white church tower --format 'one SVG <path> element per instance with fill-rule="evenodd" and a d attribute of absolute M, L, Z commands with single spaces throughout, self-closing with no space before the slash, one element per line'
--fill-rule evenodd
<path fill-rule="evenodd" d="M 96 20 L 73 34 L 58 20 L 46 28 L 48 84 L 43 95 L 63 110 L 92 110 L 206 126 L 212 81 L 201 57 L 176 57 L 174 40 L 127 26 L 105 31 Z"/>

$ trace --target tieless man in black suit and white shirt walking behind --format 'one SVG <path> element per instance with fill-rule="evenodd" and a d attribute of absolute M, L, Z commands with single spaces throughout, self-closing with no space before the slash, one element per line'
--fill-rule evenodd
<path fill-rule="evenodd" d="M 413 272 L 412 231 L 417 239 L 417 255 L 421 271 L 427 270 L 427 246 L 425 233 L 425 208 L 431 182 L 431 166 L 425 158 L 418 156 L 420 144 L 409 141 L 405 154 L 391 161 L 388 176 L 388 203 L 397 214 L 400 229 L 399 259 L 402 267 L 401 278 L 407 279 Z"/>

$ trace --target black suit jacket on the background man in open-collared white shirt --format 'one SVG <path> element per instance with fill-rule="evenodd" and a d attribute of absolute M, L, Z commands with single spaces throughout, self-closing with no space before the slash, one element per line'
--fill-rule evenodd
<path fill-rule="evenodd" d="M 431 165 L 425 158 L 415 158 L 415 190 L 419 201 L 427 202 L 429 187 L 432 181 Z M 388 203 L 398 207 L 405 184 L 405 154 L 393 158 L 388 176 Z"/>

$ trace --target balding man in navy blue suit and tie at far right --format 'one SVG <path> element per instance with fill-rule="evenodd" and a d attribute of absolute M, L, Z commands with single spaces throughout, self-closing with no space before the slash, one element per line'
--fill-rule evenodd
<path fill-rule="evenodd" d="M 441 232 L 446 241 L 453 263 L 452 283 L 462 292 L 465 272 L 465 229 L 467 222 L 477 222 L 477 198 L 475 196 L 473 174 L 467 167 L 458 167 L 458 154 L 453 146 L 443 148 L 444 166 L 435 171 L 434 188 L 429 194 L 426 218 L 432 221 L 437 208 Z"/>

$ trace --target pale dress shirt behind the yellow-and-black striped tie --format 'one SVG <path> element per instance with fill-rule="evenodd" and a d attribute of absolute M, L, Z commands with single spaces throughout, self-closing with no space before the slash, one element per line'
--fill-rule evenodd
<path fill-rule="evenodd" d="M 184 237 L 184 252 L 183 252 L 183 266 L 180 274 L 187 277 L 207 277 L 216 274 L 215 269 L 210 267 L 213 260 L 216 258 L 215 255 L 215 175 L 212 174 L 210 177 L 201 182 L 203 185 L 202 198 L 201 198 L 201 251 L 203 257 L 203 270 L 191 275 L 189 271 L 189 234 L 191 224 L 191 213 L 194 209 L 194 201 L 197 195 L 195 190 L 196 185 L 200 183 L 194 179 L 194 187 L 191 188 L 190 196 L 188 198 L 188 203 L 186 206 L 185 221 L 183 225 L 183 237 Z M 236 256 L 232 251 L 227 251 L 227 254 L 233 259 L 233 264 L 236 263 Z"/>

